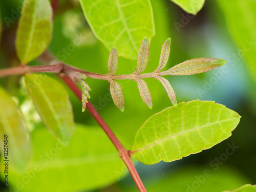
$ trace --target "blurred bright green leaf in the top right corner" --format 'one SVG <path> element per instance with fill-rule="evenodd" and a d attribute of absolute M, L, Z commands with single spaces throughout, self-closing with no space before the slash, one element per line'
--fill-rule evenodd
<path fill-rule="evenodd" d="M 217 2 L 225 15 L 226 26 L 231 37 L 239 47 L 239 56 L 230 56 L 228 60 L 233 66 L 240 62 L 241 57 L 244 57 L 249 74 L 256 83 L 256 2 L 241 0 L 234 0 L 232 3 L 222 0 Z"/>

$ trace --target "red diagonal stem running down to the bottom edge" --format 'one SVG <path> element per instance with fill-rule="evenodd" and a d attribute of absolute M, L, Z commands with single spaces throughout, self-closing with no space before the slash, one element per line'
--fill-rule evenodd
<path fill-rule="evenodd" d="M 77 98 L 81 101 L 82 100 L 82 93 L 80 89 L 76 86 L 76 84 L 72 81 L 72 79 L 67 75 L 59 75 L 59 77 L 67 84 L 67 86 L 73 91 L 73 93 L 77 96 Z M 99 115 L 99 113 L 96 111 L 96 109 L 93 107 L 93 105 L 88 101 L 86 104 L 86 109 L 89 111 L 89 113 L 93 116 L 93 118 L 98 122 L 98 124 L 101 126 L 103 131 L 108 135 L 112 143 L 115 145 L 117 151 L 119 152 L 119 157 L 123 160 L 126 167 L 128 168 L 137 188 L 140 192 L 146 192 L 146 189 L 137 173 L 137 170 L 130 158 L 129 151 L 127 151 L 122 143 L 118 140 L 118 138 L 115 136 L 115 134 L 112 132 L 108 124 L 102 119 L 102 117 Z"/>

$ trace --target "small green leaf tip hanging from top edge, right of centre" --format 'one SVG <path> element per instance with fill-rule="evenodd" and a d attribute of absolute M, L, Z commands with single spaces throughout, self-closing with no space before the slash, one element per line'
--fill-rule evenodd
<path fill-rule="evenodd" d="M 184 11 L 196 15 L 204 5 L 205 0 L 171 0 Z"/>

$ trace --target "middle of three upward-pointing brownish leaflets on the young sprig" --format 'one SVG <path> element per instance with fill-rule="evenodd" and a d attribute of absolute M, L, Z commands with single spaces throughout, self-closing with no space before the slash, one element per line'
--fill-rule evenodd
<path fill-rule="evenodd" d="M 144 37 L 140 46 L 137 68 L 134 74 L 139 75 L 146 69 L 146 64 L 149 56 L 150 56 L 150 46 L 148 45 L 148 39 Z"/>

